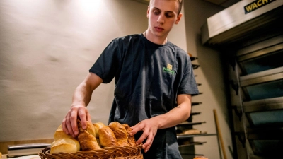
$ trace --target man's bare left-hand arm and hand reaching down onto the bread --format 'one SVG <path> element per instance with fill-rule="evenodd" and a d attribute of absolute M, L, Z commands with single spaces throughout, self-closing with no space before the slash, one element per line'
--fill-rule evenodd
<path fill-rule="evenodd" d="M 86 129 L 86 121 L 91 121 L 91 115 L 86 106 L 91 101 L 91 95 L 103 80 L 94 73 L 88 73 L 88 76 L 74 91 L 71 109 L 62 121 L 62 129 L 66 134 L 75 137 L 79 134 L 76 119 L 79 116 L 83 129 Z"/>

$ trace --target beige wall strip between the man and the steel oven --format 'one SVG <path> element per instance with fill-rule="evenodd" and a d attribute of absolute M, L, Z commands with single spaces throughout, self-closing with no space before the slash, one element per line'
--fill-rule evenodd
<path fill-rule="evenodd" d="M 207 134 L 216 134 L 213 112 L 215 109 L 219 119 L 226 157 L 233 158 L 231 151 L 229 151 L 229 147 L 233 149 L 233 144 L 229 128 L 228 102 L 226 100 L 226 88 L 224 87 L 225 75 L 221 64 L 221 54 L 214 49 L 202 45 L 200 30 L 207 18 L 224 8 L 200 0 L 185 0 L 184 3 L 187 52 L 198 57 L 197 60 L 192 61 L 192 64 L 200 65 L 194 72 L 197 75 L 197 83 L 202 84 L 198 88 L 203 93 L 202 95 L 192 97 L 193 102 L 202 102 L 201 105 L 192 107 L 192 112 L 201 112 L 200 115 L 192 117 L 192 122 L 206 122 L 195 125 L 193 128 L 206 131 Z M 204 154 L 209 159 L 221 158 L 217 136 L 195 137 L 194 141 L 207 142 L 203 145 L 195 146 L 195 153 Z"/>

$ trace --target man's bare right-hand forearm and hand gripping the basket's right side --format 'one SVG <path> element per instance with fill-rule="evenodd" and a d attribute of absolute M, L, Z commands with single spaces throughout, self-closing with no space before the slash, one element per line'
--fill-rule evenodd
<path fill-rule="evenodd" d="M 175 126 L 180 122 L 184 122 L 187 118 L 190 117 L 191 110 L 191 95 L 178 95 L 177 104 L 178 106 L 170 110 L 166 114 L 161 114 L 151 119 L 145 119 L 135 126 L 132 126 L 131 135 L 136 134 L 138 131 L 144 131 L 141 137 L 137 140 L 139 145 L 144 139 L 146 143 L 143 144 L 145 152 L 149 151 L 152 142 L 154 141 L 154 136 L 158 129 L 165 129 L 168 127 Z"/>

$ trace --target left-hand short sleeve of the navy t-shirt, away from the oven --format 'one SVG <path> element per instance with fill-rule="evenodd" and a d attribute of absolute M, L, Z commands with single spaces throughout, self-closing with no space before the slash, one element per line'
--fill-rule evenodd
<path fill-rule="evenodd" d="M 117 74 L 120 64 L 120 53 L 118 40 L 112 40 L 100 54 L 100 57 L 98 57 L 89 72 L 95 73 L 102 78 L 103 83 L 110 83 Z"/>

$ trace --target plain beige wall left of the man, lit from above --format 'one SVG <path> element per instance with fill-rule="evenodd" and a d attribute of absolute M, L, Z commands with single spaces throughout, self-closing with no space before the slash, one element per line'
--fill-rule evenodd
<path fill-rule="evenodd" d="M 129 0 L 1 0 L 0 141 L 52 138 L 108 43 L 146 30 L 146 8 Z M 108 122 L 113 89 L 102 84 L 93 93 L 93 122 Z"/>

